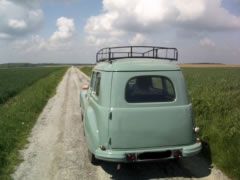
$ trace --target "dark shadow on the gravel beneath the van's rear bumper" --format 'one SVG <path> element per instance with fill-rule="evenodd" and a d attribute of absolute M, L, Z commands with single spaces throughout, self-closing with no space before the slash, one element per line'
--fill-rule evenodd
<path fill-rule="evenodd" d="M 122 163 L 120 168 L 117 163 L 102 161 L 99 165 L 111 179 L 203 178 L 212 169 L 211 158 L 206 158 L 204 153 L 178 161 Z"/>

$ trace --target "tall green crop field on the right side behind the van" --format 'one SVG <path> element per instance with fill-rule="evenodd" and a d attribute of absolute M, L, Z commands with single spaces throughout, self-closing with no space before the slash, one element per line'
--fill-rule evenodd
<path fill-rule="evenodd" d="M 91 73 L 90 67 L 81 70 Z M 203 154 L 228 176 L 240 179 L 240 68 L 182 70 L 206 143 Z"/>

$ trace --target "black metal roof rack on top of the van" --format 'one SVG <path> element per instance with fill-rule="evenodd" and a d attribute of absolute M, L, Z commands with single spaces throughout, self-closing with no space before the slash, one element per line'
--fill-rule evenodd
<path fill-rule="evenodd" d="M 170 61 L 178 60 L 178 50 L 169 47 L 156 46 L 119 46 L 100 49 L 96 61 L 110 61 L 123 58 L 154 58 Z"/>

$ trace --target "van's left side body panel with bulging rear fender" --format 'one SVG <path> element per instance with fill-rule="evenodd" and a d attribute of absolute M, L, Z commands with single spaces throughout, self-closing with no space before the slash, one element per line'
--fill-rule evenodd
<path fill-rule="evenodd" d="M 102 81 L 109 82 L 100 84 L 100 94 L 97 97 L 93 92 L 92 87 L 87 91 L 82 91 L 80 101 L 83 118 L 84 131 L 87 140 L 88 148 L 94 151 L 99 145 L 108 145 L 108 116 L 110 112 L 110 90 L 112 81 L 112 72 L 102 74 Z"/>

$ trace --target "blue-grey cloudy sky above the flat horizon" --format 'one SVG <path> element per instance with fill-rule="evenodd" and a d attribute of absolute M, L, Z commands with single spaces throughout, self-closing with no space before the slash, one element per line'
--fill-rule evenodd
<path fill-rule="evenodd" d="M 240 64 L 240 0 L 0 0 L 0 64 L 95 63 L 121 45 Z"/>

